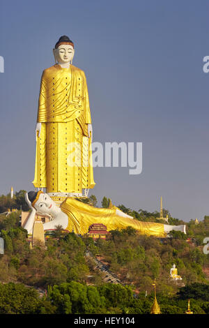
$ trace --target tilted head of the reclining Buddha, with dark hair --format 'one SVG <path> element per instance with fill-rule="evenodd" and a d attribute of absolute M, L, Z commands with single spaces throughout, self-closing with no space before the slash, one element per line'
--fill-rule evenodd
<path fill-rule="evenodd" d="M 53 217 L 58 211 L 58 207 L 52 198 L 42 191 L 38 191 L 37 193 L 35 191 L 29 191 L 25 195 L 25 200 L 30 207 L 32 206 L 36 209 L 37 214 Z"/>

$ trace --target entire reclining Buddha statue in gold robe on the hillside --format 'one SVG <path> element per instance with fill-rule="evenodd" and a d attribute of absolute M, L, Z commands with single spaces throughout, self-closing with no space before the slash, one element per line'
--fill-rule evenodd
<path fill-rule="evenodd" d="M 33 223 L 36 214 L 49 216 L 51 221 L 44 223 L 44 230 L 56 229 L 57 225 L 62 225 L 63 229 L 76 234 L 86 234 L 88 227 L 93 223 L 102 223 L 106 225 L 107 231 L 124 229 L 132 227 L 139 234 L 147 234 L 155 237 L 167 237 L 169 231 L 183 230 L 182 225 L 164 225 L 155 222 L 138 221 L 129 216 L 117 207 L 109 209 L 93 207 L 85 204 L 74 197 L 67 197 L 57 206 L 47 193 L 30 191 L 26 193 L 26 202 L 32 211 L 24 225 L 24 228 L 31 234 L 33 232 Z"/>

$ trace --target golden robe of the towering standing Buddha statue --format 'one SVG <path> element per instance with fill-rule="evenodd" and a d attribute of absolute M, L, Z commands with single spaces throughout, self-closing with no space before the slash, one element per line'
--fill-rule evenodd
<path fill-rule="evenodd" d="M 47 188 L 47 193 L 82 193 L 82 188 L 93 188 L 91 113 L 82 70 L 55 64 L 43 71 L 37 122 L 41 131 L 36 142 L 35 188 Z"/>

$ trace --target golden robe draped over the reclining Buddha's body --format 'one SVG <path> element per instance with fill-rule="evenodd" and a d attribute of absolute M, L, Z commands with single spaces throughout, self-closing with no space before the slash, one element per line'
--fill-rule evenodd
<path fill-rule="evenodd" d="M 123 218 L 116 214 L 116 207 L 101 209 L 68 197 L 61 204 L 61 211 L 68 215 L 68 227 L 66 230 L 76 234 L 86 234 L 88 227 L 93 223 L 103 223 L 107 231 L 125 229 L 128 226 L 136 229 L 139 234 L 166 237 L 162 223 L 142 222 L 132 218 Z"/>

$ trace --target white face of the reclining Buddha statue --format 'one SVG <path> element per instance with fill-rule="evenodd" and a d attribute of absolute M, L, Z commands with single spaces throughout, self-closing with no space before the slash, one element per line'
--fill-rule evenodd
<path fill-rule="evenodd" d="M 49 195 L 47 195 L 47 193 L 40 193 L 34 207 L 38 213 L 49 214 L 50 216 L 53 216 L 54 211 L 57 209 L 55 202 L 49 197 Z"/>

